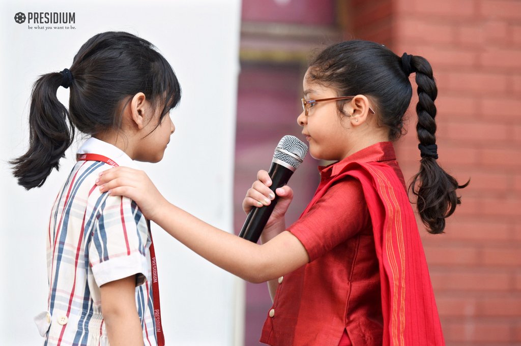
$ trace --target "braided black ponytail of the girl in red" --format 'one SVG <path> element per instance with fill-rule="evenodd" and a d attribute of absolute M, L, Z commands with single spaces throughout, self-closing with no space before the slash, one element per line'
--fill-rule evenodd
<path fill-rule="evenodd" d="M 438 165 L 434 104 L 438 88 L 429 62 L 423 57 L 405 53 L 402 56 L 402 68 L 407 75 L 416 72 L 418 85 L 416 132 L 421 160 L 419 172 L 414 175 L 409 188 L 417 197 L 418 213 L 428 232 L 442 233 L 445 228 L 445 218 L 454 213 L 457 204 L 461 204 L 461 198 L 457 197 L 456 190 L 466 187 L 469 182 L 458 185 L 456 179 Z"/>

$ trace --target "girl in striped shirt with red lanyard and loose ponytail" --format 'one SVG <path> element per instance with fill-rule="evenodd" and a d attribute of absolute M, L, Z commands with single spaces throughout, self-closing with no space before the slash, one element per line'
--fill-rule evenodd
<path fill-rule="evenodd" d="M 60 86 L 70 91 L 68 108 Z M 21 186 L 42 186 L 75 134 L 90 137 L 48 223 L 48 309 L 35 317 L 46 346 L 165 344 L 148 222 L 134 201 L 95 187 L 110 166 L 163 158 L 180 97 L 166 59 L 126 32 L 91 37 L 70 68 L 34 83 L 29 149 L 11 161 Z"/>

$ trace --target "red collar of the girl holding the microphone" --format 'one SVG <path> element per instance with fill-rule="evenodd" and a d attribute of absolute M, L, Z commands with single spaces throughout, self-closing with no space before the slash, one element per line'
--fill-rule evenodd
<path fill-rule="evenodd" d="M 379 142 L 359 150 L 342 161 L 332 163 L 328 166 L 319 166 L 320 175 L 322 178 L 335 176 L 343 171 L 346 165 L 352 162 L 381 162 L 396 160 L 394 147 L 391 142 Z"/>

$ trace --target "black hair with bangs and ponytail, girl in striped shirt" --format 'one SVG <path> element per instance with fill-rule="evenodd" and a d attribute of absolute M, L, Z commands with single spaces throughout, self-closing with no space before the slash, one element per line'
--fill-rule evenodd
<path fill-rule="evenodd" d="M 60 85 L 70 86 L 69 109 L 56 97 Z M 88 135 L 119 129 L 123 101 L 139 92 L 153 106 L 163 105 L 159 123 L 181 99 L 168 61 L 150 42 L 126 32 L 91 37 L 69 70 L 41 75 L 31 94 L 29 149 L 10 162 L 18 184 L 42 186 L 59 169 L 75 129 Z"/>

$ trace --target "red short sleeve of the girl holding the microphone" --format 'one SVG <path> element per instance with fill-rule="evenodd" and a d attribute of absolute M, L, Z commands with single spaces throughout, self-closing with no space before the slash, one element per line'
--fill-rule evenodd
<path fill-rule="evenodd" d="M 369 224 L 362 184 L 346 177 L 330 186 L 288 230 L 300 240 L 310 261 L 314 261 Z"/>

